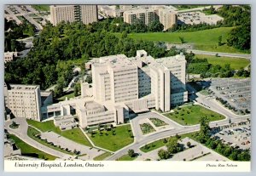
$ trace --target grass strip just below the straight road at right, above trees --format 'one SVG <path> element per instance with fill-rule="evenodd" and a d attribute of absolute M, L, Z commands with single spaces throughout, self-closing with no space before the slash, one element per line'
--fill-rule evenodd
<path fill-rule="evenodd" d="M 241 67 L 246 67 L 250 64 L 250 61 L 243 58 L 230 58 L 230 57 L 216 57 L 214 55 L 203 55 L 203 54 L 195 54 L 195 57 L 198 59 L 207 58 L 208 62 L 212 65 L 221 65 L 224 66 L 226 64 L 230 64 L 232 69 L 238 70 Z"/>

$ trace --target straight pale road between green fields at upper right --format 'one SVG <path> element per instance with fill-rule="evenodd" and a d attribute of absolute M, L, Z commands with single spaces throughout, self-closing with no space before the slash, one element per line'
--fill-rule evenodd
<path fill-rule="evenodd" d="M 187 49 L 187 52 L 192 52 L 194 54 L 206 54 L 206 55 L 216 55 L 224 56 L 224 57 L 233 57 L 233 58 L 245 58 L 247 60 L 251 60 L 251 54 L 230 54 L 230 53 L 219 53 L 219 52 L 210 52 L 210 51 L 201 51 L 195 49 Z"/>

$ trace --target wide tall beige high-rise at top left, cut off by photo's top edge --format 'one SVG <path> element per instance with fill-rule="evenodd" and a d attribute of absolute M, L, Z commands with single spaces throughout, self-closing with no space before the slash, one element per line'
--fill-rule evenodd
<path fill-rule="evenodd" d="M 51 5 L 50 19 L 54 26 L 61 21 L 82 21 L 85 25 L 97 21 L 96 5 Z"/>

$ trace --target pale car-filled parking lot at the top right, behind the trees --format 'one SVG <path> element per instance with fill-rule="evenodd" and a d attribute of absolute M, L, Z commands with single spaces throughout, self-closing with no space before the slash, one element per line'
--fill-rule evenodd
<path fill-rule="evenodd" d="M 223 20 L 222 17 L 217 14 L 206 15 L 202 12 L 187 12 L 183 14 L 177 14 L 177 20 L 187 25 L 198 25 L 200 23 L 207 23 L 209 25 L 216 25 L 219 20 Z"/>

